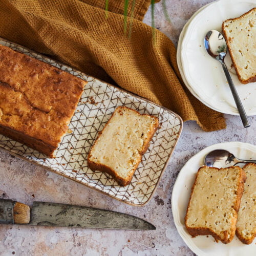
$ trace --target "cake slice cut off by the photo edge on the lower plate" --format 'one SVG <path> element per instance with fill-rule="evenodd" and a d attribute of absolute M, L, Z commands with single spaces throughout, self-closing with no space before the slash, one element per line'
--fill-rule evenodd
<path fill-rule="evenodd" d="M 238 212 L 236 234 L 244 244 L 250 244 L 256 237 L 256 164 L 248 163 L 243 169 L 247 179 Z"/>

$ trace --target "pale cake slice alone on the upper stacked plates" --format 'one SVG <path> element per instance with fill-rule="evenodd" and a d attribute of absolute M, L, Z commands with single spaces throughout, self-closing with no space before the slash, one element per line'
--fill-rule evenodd
<path fill-rule="evenodd" d="M 256 81 L 256 8 L 222 24 L 233 66 L 242 83 Z"/>

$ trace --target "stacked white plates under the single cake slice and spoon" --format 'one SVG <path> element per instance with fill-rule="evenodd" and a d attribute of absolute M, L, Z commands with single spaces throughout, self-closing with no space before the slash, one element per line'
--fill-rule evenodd
<path fill-rule="evenodd" d="M 216 111 L 239 115 L 220 63 L 204 48 L 204 37 L 211 29 L 221 31 L 224 20 L 239 17 L 254 7 L 255 0 L 212 2 L 199 9 L 180 34 L 177 62 L 182 79 L 191 94 Z M 239 81 L 229 54 L 225 62 L 247 115 L 256 115 L 256 83 L 242 84 Z"/>

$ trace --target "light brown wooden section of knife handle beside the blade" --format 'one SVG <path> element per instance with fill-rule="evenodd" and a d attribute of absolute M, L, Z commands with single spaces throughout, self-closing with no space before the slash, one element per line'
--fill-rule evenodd
<path fill-rule="evenodd" d="M 28 224 L 30 222 L 30 208 L 28 205 L 15 202 L 13 206 L 14 224 Z"/>

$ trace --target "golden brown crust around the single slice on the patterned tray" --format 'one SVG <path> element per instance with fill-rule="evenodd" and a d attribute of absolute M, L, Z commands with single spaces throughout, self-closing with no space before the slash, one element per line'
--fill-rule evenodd
<path fill-rule="evenodd" d="M 120 110 L 120 111 L 121 111 L 122 109 L 129 109 L 129 108 L 126 108 L 126 106 L 119 106 L 116 110 Z M 130 109 L 130 110 L 132 110 L 132 109 Z M 141 114 L 140 114 L 138 111 L 136 111 L 136 110 L 132 110 L 132 111 L 136 112 L 136 114 L 141 115 Z M 147 115 L 147 114 L 142 114 L 142 115 Z M 148 115 L 148 116 L 151 116 L 151 115 Z M 108 123 L 111 121 L 112 117 L 113 117 L 113 115 L 111 116 L 111 118 L 109 119 L 109 121 L 105 124 L 104 128 L 102 129 L 102 131 L 99 132 L 98 138 L 101 136 L 102 132 L 104 131 L 104 129 L 105 129 L 105 127 L 108 125 Z M 154 117 L 154 116 L 151 116 L 151 117 Z M 131 174 L 130 174 L 130 176 L 129 176 L 128 178 L 123 179 L 123 178 L 119 177 L 119 176 L 117 175 L 116 171 L 113 170 L 112 168 L 110 168 L 109 166 L 106 166 L 106 165 L 104 165 L 104 164 L 95 163 L 95 162 L 93 162 L 93 161 L 90 160 L 90 158 L 91 158 L 91 151 L 92 151 L 92 149 L 93 149 L 95 143 L 94 143 L 94 145 L 92 146 L 92 148 L 91 148 L 91 150 L 90 150 L 90 152 L 89 152 L 89 154 L 88 154 L 88 160 L 87 160 L 87 162 L 88 162 L 89 168 L 92 169 L 92 170 L 100 170 L 101 172 L 105 172 L 105 173 L 110 174 L 110 175 L 114 178 L 114 180 L 117 181 L 117 183 L 118 183 L 120 186 L 129 185 L 129 184 L 131 183 L 131 181 L 132 181 L 132 178 L 133 178 L 133 175 L 134 175 L 134 173 L 135 173 L 135 170 L 137 169 L 139 163 L 141 162 L 141 159 L 142 159 L 143 154 L 147 151 L 147 148 L 148 148 L 148 146 L 149 146 L 149 144 L 150 144 L 150 141 L 152 140 L 152 138 L 153 138 L 153 136 L 154 136 L 156 130 L 158 129 L 158 125 L 159 125 L 158 118 L 157 118 L 157 117 L 154 117 L 154 118 L 155 118 L 155 120 L 156 120 L 156 123 L 155 123 L 155 125 L 154 125 L 154 129 L 150 132 L 150 134 L 149 134 L 149 136 L 148 136 L 148 138 L 147 138 L 147 141 L 146 141 L 146 142 L 144 143 L 144 145 L 143 145 L 142 151 L 140 152 L 140 161 L 138 161 L 137 164 L 134 166 L 133 172 L 131 172 Z M 98 138 L 97 138 L 97 139 L 98 139 Z M 96 139 L 96 140 L 97 140 L 97 139 Z"/>

